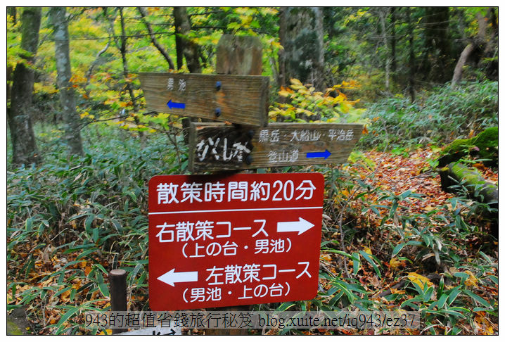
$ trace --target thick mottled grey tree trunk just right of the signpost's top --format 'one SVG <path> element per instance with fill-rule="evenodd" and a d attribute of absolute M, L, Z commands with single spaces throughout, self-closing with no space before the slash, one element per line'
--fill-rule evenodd
<path fill-rule="evenodd" d="M 323 90 L 326 82 L 321 8 L 283 8 L 280 20 L 279 38 L 284 48 L 279 53 L 281 85 L 286 85 L 290 78 L 296 78 Z"/>

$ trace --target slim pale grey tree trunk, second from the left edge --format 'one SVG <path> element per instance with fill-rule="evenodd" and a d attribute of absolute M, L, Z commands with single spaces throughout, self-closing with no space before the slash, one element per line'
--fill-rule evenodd
<path fill-rule="evenodd" d="M 68 152 L 83 156 L 79 115 L 75 111 L 75 91 L 70 84 L 72 69 L 70 65 L 68 22 L 65 7 L 53 7 L 50 10 L 51 21 L 54 26 L 54 47 L 56 56 L 56 70 L 58 70 L 58 91 L 63 108 L 65 122 L 65 141 Z"/>

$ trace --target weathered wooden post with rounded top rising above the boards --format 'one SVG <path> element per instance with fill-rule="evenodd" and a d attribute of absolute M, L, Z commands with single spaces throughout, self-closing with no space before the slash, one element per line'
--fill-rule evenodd
<path fill-rule="evenodd" d="M 223 34 L 217 43 L 216 72 L 225 75 L 261 75 L 262 44 L 260 39 L 252 36 Z M 250 311 L 251 309 L 252 305 L 241 305 L 215 310 Z M 248 331 L 247 329 L 207 329 L 205 334 L 247 335 Z"/>

